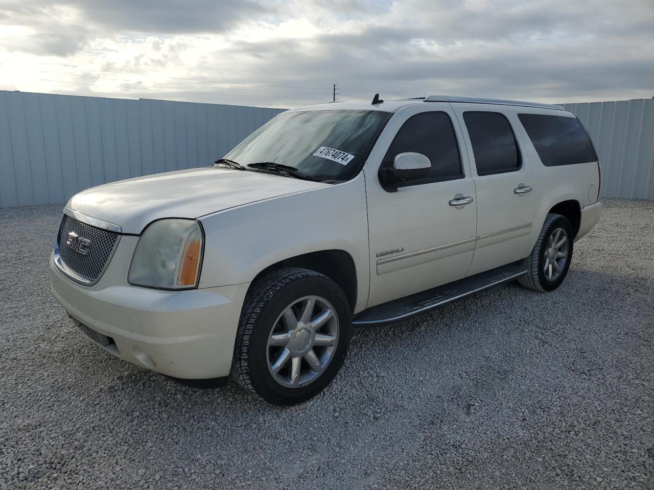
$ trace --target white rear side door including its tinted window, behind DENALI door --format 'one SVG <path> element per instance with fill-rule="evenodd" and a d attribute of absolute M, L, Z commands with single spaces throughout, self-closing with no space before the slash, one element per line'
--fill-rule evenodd
<path fill-rule="evenodd" d="M 534 185 L 511 108 L 456 104 L 477 191 L 477 244 L 468 276 L 528 255 Z"/>

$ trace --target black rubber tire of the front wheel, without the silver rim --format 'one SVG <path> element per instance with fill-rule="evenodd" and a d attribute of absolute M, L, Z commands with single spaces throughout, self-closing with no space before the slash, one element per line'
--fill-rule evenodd
<path fill-rule="evenodd" d="M 334 307 L 338 340 L 331 360 L 307 385 L 286 387 L 271 374 L 268 366 L 268 337 L 277 318 L 292 302 L 315 295 Z M 232 377 L 246 391 L 275 405 L 292 405 L 308 400 L 336 377 L 343 365 L 352 337 L 352 312 L 345 294 L 327 276 L 313 270 L 273 270 L 250 286 L 245 297 L 234 344 Z"/>

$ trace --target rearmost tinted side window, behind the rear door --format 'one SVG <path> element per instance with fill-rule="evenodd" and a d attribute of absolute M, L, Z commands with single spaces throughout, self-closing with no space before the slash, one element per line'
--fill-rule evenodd
<path fill-rule="evenodd" d="M 543 165 L 574 165 L 597 161 L 593 144 L 577 118 L 518 114 Z"/>

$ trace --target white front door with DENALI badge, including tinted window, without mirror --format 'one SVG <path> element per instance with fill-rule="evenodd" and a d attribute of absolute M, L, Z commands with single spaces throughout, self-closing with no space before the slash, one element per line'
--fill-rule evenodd
<path fill-rule="evenodd" d="M 369 308 L 461 279 L 472 261 L 477 202 L 460 128 L 448 104 L 429 103 L 429 112 L 424 107 L 398 110 L 364 167 Z M 430 174 L 386 191 L 379 168 L 404 152 L 426 155 Z"/>

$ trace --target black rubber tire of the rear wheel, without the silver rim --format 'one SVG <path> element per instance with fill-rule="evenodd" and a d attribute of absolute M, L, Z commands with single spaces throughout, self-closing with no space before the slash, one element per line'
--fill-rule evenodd
<path fill-rule="evenodd" d="M 547 240 L 557 231 L 557 229 L 562 228 L 567 234 L 567 257 L 564 267 L 560 271 L 559 275 L 554 279 L 550 280 L 545 275 L 545 264 L 547 257 L 545 253 L 547 252 Z M 572 250 L 574 245 L 574 234 L 572 231 L 572 225 L 570 221 L 565 216 L 560 214 L 547 214 L 545 218 L 545 223 L 543 223 L 543 228 L 536 240 L 536 245 L 534 245 L 534 250 L 532 253 L 525 259 L 527 273 L 518 278 L 518 283 L 528 289 L 534 289 L 534 291 L 554 291 L 563 280 L 568 275 L 568 269 L 570 269 L 570 262 L 572 261 Z"/>

